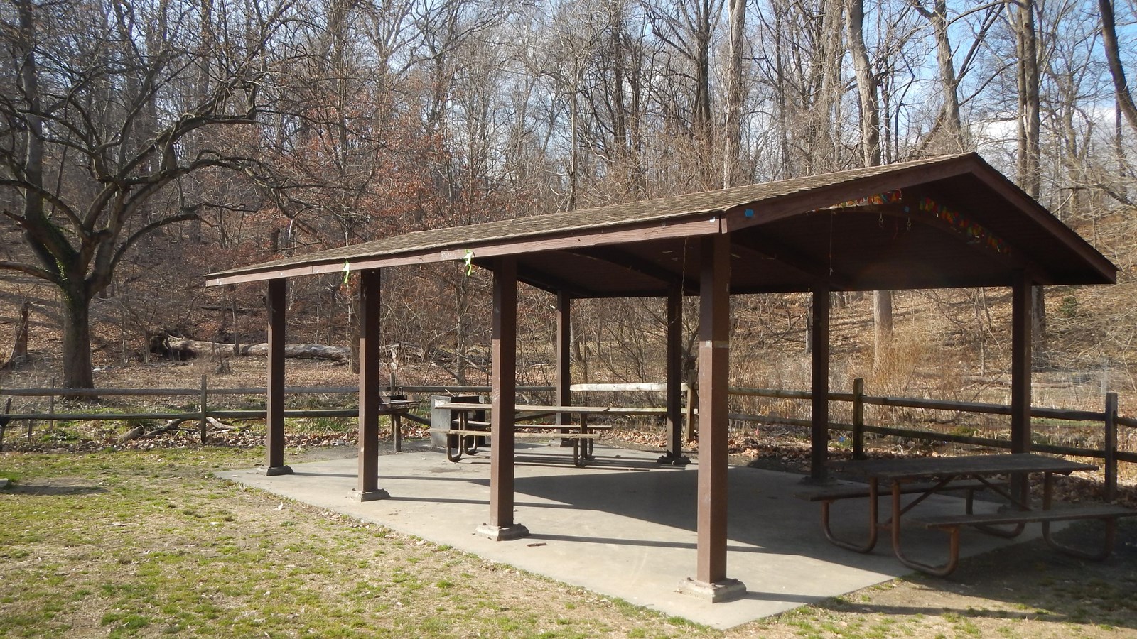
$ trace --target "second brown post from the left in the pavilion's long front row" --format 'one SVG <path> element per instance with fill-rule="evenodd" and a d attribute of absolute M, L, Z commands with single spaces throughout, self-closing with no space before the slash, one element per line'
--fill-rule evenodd
<path fill-rule="evenodd" d="M 379 404 L 382 338 L 379 324 L 381 274 L 379 268 L 359 273 L 359 474 L 355 498 L 374 501 L 390 497 L 379 488 Z"/>

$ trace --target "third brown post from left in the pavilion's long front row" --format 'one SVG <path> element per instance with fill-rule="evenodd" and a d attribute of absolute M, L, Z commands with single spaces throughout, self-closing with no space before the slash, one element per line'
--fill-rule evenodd
<path fill-rule="evenodd" d="M 493 343 L 490 371 L 490 521 L 476 532 L 498 541 L 528 537 L 513 521 L 514 423 L 517 407 L 517 259 L 493 267 Z"/>

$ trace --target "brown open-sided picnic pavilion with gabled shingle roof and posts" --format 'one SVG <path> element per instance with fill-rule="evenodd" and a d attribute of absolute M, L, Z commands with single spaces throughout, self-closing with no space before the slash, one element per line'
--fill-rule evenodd
<path fill-rule="evenodd" d="M 555 404 L 570 405 L 573 299 L 666 300 L 667 443 L 682 463 L 681 309 L 699 298 L 697 561 L 688 591 L 712 601 L 745 587 L 727 571 L 730 296 L 810 292 L 812 448 L 808 481 L 825 481 L 829 305 L 833 291 L 1010 287 L 1012 453 L 1030 449 L 1031 288 L 1114 283 L 1117 267 L 976 153 L 937 157 L 691 193 L 418 231 L 210 274 L 210 285 L 265 281 L 268 294 L 266 474 L 285 474 L 285 281 L 360 273 L 359 457 L 356 497 L 377 486 L 380 269 L 466 262 L 493 274 L 490 513 L 479 532 L 524 537 L 514 521 L 517 283 L 556 296 Z"/>

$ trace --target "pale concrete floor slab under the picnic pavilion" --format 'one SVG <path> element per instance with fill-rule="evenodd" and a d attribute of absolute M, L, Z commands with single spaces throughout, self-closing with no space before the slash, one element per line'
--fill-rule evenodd
<path fill-rule="evenodd" d="M 596 453 L 595 463 L 578 468 L 571 449 L 517 446 L 515 521 L 531 534 L 513 541 L 474 532 L 489 515 L 488 453 L 458 463 L 433 450 L 382 456 L 379 486 L 391 498 L 368 503 L 352 498 L 355 457 L 293 464 L 294 472 L 282 476 L 254 468 L 217 474 L 719 629 L 910 572 L 893 556 L 887 536 L 866 555 L 825 541 L 820 506 L 794 497 L 808 489 L 802 475 L 731 467 L 727 572 L 747 591 L 735 601 L 706 603 L 679 591 L 695 574 L 697 464 L 659 466 L 657 453 L 603 446 Z M 960 501 L 936 496 L 921 508 L 961 512 Z M 838 503 L 833 522 L 835 531 L 863 537 L 864 503 Z M 963 555 L 1007 542 L 964 531 Z M 938 563 L 947 536 L 913 530 L 905 551 Z"/>

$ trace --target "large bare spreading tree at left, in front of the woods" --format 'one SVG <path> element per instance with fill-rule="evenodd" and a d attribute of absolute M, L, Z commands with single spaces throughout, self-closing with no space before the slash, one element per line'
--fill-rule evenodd
<path fill-rule="evenodd" d="M 0 262 L 58 287 L 63 370 L 93 385 L 91 300 L 130 249 L 191 219 L 151 206 L 198 172 L 248 169 L 210 130 L 252 125 L 285 5 L 7 0 L 0 8 L 0 209 L 27 252 Z M 206 82 L 208 80 L 208 82 Z"/>

